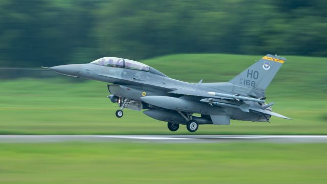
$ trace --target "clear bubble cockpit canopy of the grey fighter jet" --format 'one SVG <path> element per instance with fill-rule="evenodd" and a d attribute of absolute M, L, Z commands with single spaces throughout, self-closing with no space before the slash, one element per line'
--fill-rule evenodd
<path fill-rule="evenodd" d="M 144 72 L 149 72 L 150 66 L 123 58 L 116 58 L 116 57 L 104 57 L 92 61 L 91 64 L 97 64 L 102 66 L 110 66 L 110 67 L 120 67 L 120 68 L 127 68 L 132 70 L 139 70 Z"/>

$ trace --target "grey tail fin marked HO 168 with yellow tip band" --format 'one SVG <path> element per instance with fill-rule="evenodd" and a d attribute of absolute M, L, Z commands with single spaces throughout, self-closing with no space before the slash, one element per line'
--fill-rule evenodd
<path fill-rule="evenodd" d="M 229 83 L 265 91 L 285 61 L 284 57 L 268 54 L 231 79 Z"/>

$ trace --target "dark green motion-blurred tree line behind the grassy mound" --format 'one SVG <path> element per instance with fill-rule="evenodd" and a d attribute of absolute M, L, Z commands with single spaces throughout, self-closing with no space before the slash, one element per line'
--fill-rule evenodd
<path fill-rule="evenodd" d="M 327 56 L 327 1 L 2 0 L 0 65 L 174 53 Z"/>

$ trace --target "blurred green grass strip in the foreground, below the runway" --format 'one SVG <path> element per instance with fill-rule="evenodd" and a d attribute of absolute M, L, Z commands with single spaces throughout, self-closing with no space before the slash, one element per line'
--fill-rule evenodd
<path fill-rule="evenodd" d="M 326 144 L 0 144 L 0 183 L 325 183 Z"/>

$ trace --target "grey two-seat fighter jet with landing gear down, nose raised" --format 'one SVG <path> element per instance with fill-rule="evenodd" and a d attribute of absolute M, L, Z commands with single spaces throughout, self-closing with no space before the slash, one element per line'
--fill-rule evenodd
<path fill-rule="evenodd" d="M 230 119 L 269 122 L 271 116 L 290 119 L 266 104 L 266 89 L 286 58 L 266 55 L 228 82 L 198 83 L 172 79 L 141 62 L 103 57 L 88 64 L 68 64 L 50 70 L 108 83 L 108 98 L 123 109 L 143 110 L 147 116 L 168 122 L 176 131 L 186 125 L 195 132 L 199 125 L 229 125 Z M 193 114 L 200 114 L 194 116 Z"/>

